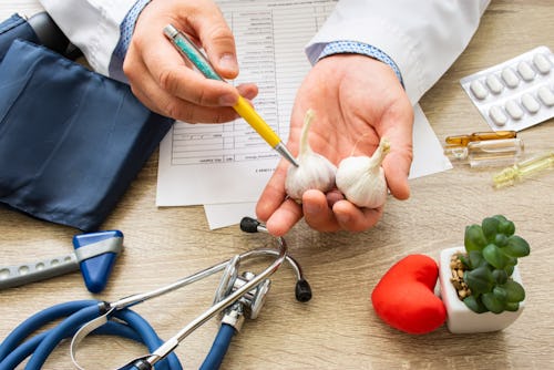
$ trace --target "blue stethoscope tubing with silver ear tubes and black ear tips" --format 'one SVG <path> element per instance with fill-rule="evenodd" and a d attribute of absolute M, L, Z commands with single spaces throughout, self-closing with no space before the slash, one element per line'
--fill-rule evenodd
<path fill-rule="evenodd" d="M 254 229 L 265 230 L 265 227 L 257 222 L 250 222 L 245 225 L 246 226 L 243 228 L 242 223 L 240 228 L 248 233 L 253 233 Z M 235 256 L 237 264 L 239 259 L 256 255 L 274 256 L 275 260 L 259 275 L 254 276 L 252 280 L 247 281 L 228 296 L 220 297 L 220 299 L 215 301 L 214 305 L 204 314 L 198 316 L 186 327 L 182 328 L 174 337 L 165 342 L 156 335 L 151 325 L 140 315 L 132 311 L 130 307 L 213 275 L 214 273 L 226 268 L 233 259 L 214 265 L 189 277 L 170 284 L 168 286 L 150 292 L 129 296 L 115 302 L 109 304 L 100 300 L 76 300 L 47 308 L 19 325 L 0 345 L 0 370 L 12 370 L 28 357 L 30 357 L 30 359 L 25 369 L 40 369 L 61 340 L 70 337 L 73 337 L 75 340 L 75 337 L 79 337 L 78 330 L 82 328 L 84 329 L 83 326 L 92 323 L 91 321 L 100 319 L 103 316 L 105 317 L 105 321 L 103 321 L 102 326 L 96 327 L 95 330 L 92 331 L 93 333 L 115 335 L 129 338 L 142 342 L 150 351 L 150 354 L 129 362 L 122 369 L 151 369 L 155 364 L 157 370 L 181 370 L 182 366 L 174 353 L 174 349 L 178 346 L 178 343 L 197 327 L 209 320 L 214 315 L 220 312 L 230 304 L 243 297 L 247 291 L 258 286 L 264 279 L 273 275 L 285 260 L 289 263 L 297 276 L 297 299 L 299 301 L 307 301 L 311 298 L 309 285 L 304 279 L 300 266 L 293 257 L 287 255 L 285 240 L 283 238 L 277 238 L 277 240 L 279 244 L 278 250 L 271 248 L 259 248 L 257 250 L 254 249 Z M 63 319 L 53 329 L 28 339 L 43 326 L 62 318 L 65 319 Z M 119 320 L 112 321 L 110 320 L 112 318 L 117 318 Z M 82 338 L 88 335 L 86 332 L 88 331 L 85 330 Z M 233 326 L 225 322 L 222 323 L 208 356 L 204 360 L 201 369 L 211 370 L 219 368 L 235 332 L 236 331 Z M 73 358 L 73 342 L 71 353 L 75 366 L 78 366 L 75 359 Z M 78 368 L 80 367 L 78 366 Z"/>

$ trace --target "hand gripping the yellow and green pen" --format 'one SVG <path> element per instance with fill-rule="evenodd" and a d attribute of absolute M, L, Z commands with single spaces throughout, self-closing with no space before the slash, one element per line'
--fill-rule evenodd
<path fill-rule="evenodd" d="M 234 88 L 194 71 L 164 35 L 170 23 L 205 50 L 222 78 L 238 74 L 234 37 L 213 1 L 152 1 L 136 21 L 123 64 L 135 96 L 156 113 L 189 123 L 236 119 L 238 94 L 254 99 L 257 86 Z"/>

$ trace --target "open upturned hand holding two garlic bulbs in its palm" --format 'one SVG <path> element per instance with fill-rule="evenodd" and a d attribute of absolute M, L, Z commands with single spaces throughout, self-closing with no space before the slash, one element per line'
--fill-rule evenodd
<path fill-rule="evenodd" d="M 350 155 L 371 155 L 380 138 L 388 137 L 391 150 L 382 163 L 388 187 L 398 199 L 410 196 L 413 109 L 390 66 L 357 54 L 317 62 L 298 90 L 293 109 L 287 144 L 293 153 L 298 153 L 304 115 L 309 109 L 316 113 L 309 143 L 336 165 Z M 285 192 L 288 165 L 280 161 L 256 207 L 269 233 L 284 235 L 302 216 L 319 232 L 362 232 L 382 216 L 382 206 L 359 208 L 338 189 L 328 194 L 307 191 L 301 204 L 296 203 Z"/>

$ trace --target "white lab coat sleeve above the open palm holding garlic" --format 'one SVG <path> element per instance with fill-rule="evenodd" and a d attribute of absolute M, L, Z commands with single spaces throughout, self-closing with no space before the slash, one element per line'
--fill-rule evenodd
<path fill-rule="evenodd" d="M 306 48 L 311 63 L 325 45 L 373 45 L 398 65 L 412 104 L 462 53 L 490 0 L 339 0 Z"/>

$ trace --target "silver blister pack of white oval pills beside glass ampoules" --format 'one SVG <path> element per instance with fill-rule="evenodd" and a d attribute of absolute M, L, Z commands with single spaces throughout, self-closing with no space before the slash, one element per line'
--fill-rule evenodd
<path fill-rule="evenodd" d="M 554 54 L 538 47 L 460 80 L 493 131 L 521 131 L 554 116 Z"/>

